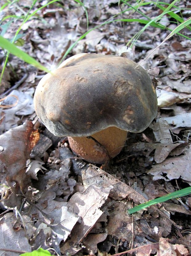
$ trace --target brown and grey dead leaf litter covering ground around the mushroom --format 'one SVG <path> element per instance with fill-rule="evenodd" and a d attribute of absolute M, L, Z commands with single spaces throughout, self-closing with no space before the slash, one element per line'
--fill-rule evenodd
<path fill-rule="evenodd" d="M 22 27 L 22 50 L 47 68 L 58 65 L 67 49 L 87 31 L 84 9 L 76 2 L 49 5 L 28 20 Z M 39 2 L 34 10 L 45 3 Z M 114 0 L 83 3 L 89 29 L 121 12 Z M 27 2 L 25 6 L 13 4 L 10 12 L 19 13 L 18 7 L 26 11 L 27 4 L 30 7 Z M 153 5 L 139 10 L 158 15 Z M 129 10 L 123 15 L 117 18 L 134 18 L 135 13 Z M 188 14 L 182 15 L 187 18 Z M 165 26 L 174 28 L 169 21 L 166 16 Z M 4 36 L 11 39 L 18 24 L 20 20 L 10 23 Z M 124 41 L 141 28 L 139 23 L 106 24 L 87 34 L 70 54 L 121 52 L 133 58 L 133 52 L 139 63 L 167 35 L 149 27 L 128 53 Z M 10 56 L 1 86 L 1 98 L 9 97 L 1 105 L 15 104 L 11 95 L 16 95 L 18 102 L 0 109 L 1 255 L 19 255 L 39 247 L 53 248 L 59 255 L 191 253 L 191 197 L 127 213 L 133 205 L 191 184 L 189 49 L 189 40 L 174 36 L 141 63 L 156 86 L 158 115 L 144 132 L 128 134 L 127 144 L 108 168 L 76 157 L 67 138 L 50 135 L 38 123 L 32 97 L 44 73 Z M 2 50 L 0 53 L 4 56 Z M 17 81 L 17 88 L 6 91 Z"/>

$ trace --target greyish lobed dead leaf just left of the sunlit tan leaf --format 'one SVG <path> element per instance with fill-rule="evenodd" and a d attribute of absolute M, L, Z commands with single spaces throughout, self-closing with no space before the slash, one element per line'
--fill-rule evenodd
<path fill-rule="evenodd" d="M 38 203 L 34 205 L 32 213 L 38 215 L 39 219 L 36 224 L 36 236 L 41 229 L 43 229 L 43 234 L 45 234 L 45 240 L 41 238 L 41 243 L 48 243 L 46 242 L 48 232 L 49 243 L 54 243 L 59 248 L 60 242 L 65 241 L 70 235 L 72 228 L 79 220 L 79 216 L 75 212 L 72 213 L 68 210 L 67 202 L 58 202 L 54 200 L 55 197 L 56 194 L 54 192 L 45 191 L 39 198 Z"/>

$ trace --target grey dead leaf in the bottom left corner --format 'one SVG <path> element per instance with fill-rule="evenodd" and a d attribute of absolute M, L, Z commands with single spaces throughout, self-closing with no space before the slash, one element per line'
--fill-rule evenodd
<path fill-rule="evenodd" d="M 13 213 L 6 213 L 0 219 L 1 248 L 31 252 L 31 246 L 26 238 L 24 229 L 13 229 L 16 217 Z M 2 256 L 18 256 L 19 253 L 5 252 L 1 249 Z"/>

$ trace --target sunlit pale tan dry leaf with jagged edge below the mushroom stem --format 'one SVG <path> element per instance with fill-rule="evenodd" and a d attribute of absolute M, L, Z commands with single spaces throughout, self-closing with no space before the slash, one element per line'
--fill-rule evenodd
<path fill-rule="evenodd" d="M 61 252 L 71 255 L 77 253 L 82 247 L 79 244 L 87 236 L 96 221 L 102 215 L 99 209 L 108 198 L 112 186 L 92 184 L 83 193 L 75 193 L 67 203 L 68 210 L 81 217 L 81 222 L 75 225 L 71 232 L 71 239 L 68 240 Z"/>

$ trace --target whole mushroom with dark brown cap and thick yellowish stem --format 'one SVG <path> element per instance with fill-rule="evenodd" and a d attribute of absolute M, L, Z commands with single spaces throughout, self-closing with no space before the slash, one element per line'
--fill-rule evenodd
<path fill-rule="evenodd" d="M 157 113 L 147 72 L 114 55 L 77 54 L 39 82 L 39 119 L 56 136 L 68 136 L 73 152 L 105 163 L 122 150 L 127 132 L 142 132 Z"/>

